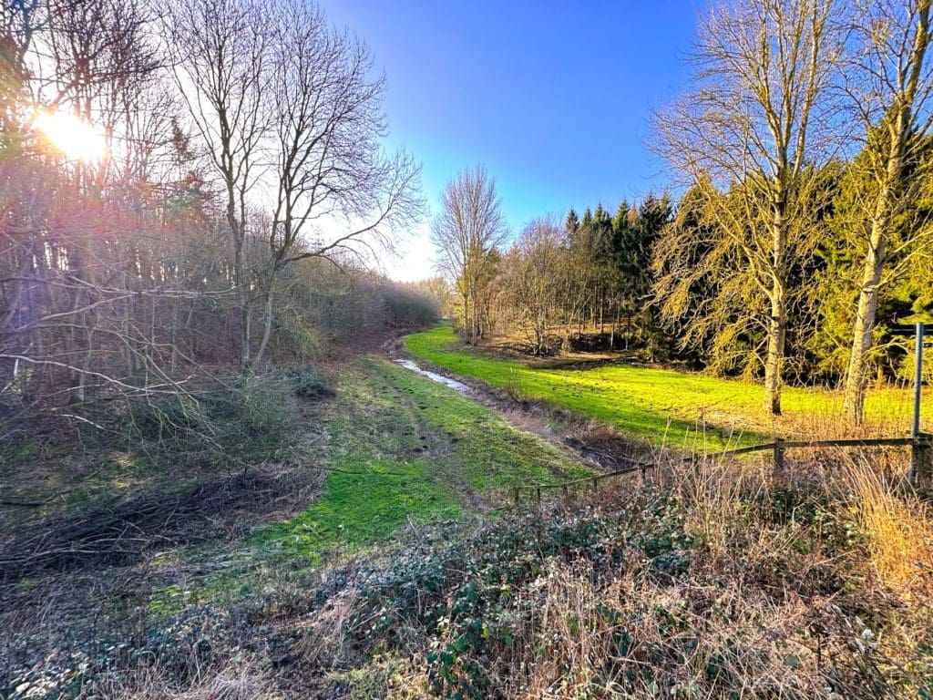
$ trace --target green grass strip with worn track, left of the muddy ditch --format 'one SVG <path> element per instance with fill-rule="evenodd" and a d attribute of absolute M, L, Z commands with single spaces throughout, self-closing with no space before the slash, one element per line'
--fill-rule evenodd
<path fill-rule="evenodd" d="M 314 558 L 387 539 L 409 522 L 488 510 L 511 485 L 589 473 L 494 411 L 382 358 L 358 359 L 337 393 L 320 497 L 261 529 L 254 545 Z"/>

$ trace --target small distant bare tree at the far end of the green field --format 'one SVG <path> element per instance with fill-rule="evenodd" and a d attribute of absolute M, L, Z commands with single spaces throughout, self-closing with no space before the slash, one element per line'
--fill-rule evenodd
<path fill-rule="evenodd" d="M 480 337 L 480 282 L 489 255 L 506 240 L 501 201 L 482 166 L 467 168 L 447 182 L 441 211 L 431 224 L 441 269 L 453 278 L 464 304 L 464 333 L 469 343 Z"/>

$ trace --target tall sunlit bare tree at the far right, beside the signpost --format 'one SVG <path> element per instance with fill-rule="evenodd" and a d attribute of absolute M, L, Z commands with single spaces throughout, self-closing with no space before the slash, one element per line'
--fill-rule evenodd
<path fill-rule="evenodd" d="M 889 269 L 889 247 L 909 253 L 928 234 L 928 227 L 914 226 L 898 238 L 897 230 L 903 228 L 898 217 L 931 176 L 922 150 L 928 148 L 933 119 L 933 68 L 927 58 L 933 34 L 930 0 L 872 0 L 858 9 L 846 88 L 864 129 L 862 157 L 850 167 L 867 183 L 852 222 L 860 238 L 856 245 L 865 252 L 843 405 L 861 423 L 879 290 L 897 276 Z"/>

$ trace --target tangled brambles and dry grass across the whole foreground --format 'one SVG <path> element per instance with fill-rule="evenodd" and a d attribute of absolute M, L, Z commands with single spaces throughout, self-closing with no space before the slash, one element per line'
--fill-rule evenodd
<path fill-rule="evenodd" d="M 3 682 L 18 697 L 930 697 L 929 512 L 868 458 L 834 467 L 775 483 L 747 462 L 661 465 L 569 510 L 423 526 L 135 636 L 39 665 L 7 655 Z"/>

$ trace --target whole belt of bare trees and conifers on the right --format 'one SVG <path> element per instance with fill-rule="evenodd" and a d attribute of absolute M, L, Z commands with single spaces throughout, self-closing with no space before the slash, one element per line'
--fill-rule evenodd
<path fill-rule="evenodd" d="M 576 329 L 760 378 L 912 375 L 893 326 L 933 312 L 933 59 L 926 0 L 742 0 L 703 16 L 687 85 L 649 146 L 683 191 L 614 216 L 533 221 L 506 245 L 494 181 L 456 175 L 433 222 L 468 343 L 518 330 L 536 353 Z M 933 374 L 933 362 L 926 376 Z"/>

